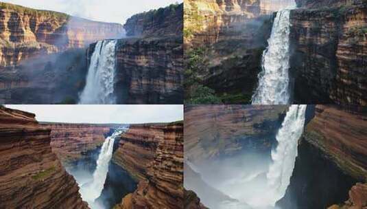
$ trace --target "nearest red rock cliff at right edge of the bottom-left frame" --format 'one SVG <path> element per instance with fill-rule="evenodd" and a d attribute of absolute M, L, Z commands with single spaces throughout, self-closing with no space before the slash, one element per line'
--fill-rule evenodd
<path fill-rule="evenodd" d="M 117 208 L 183 208 L 183 124 L 164 126 L 146 180 Z"/>

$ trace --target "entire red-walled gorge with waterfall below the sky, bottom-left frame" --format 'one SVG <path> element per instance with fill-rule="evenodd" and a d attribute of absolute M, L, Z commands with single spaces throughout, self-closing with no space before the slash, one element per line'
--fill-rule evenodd
<path fill-rule="evenodd" d="M 37 122 L 0 111 L 0 208 L 182 206 L 183 122 Z"/>

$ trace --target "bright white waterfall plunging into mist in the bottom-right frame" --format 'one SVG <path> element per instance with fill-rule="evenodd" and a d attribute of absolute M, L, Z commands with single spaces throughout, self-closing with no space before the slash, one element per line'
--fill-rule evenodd
<path fill-rule="evenodd" d="M 272 151 L 273 163 L 269 167 L 267 176 L 269 188 L 272 188 L 272 206 L 285 195 L 285 190 L 292 177 L 294 163 L 298 155 L 298 139 L 305 126 L 307 105 L 292 105 L 276 134 L 278 146 Z"/>

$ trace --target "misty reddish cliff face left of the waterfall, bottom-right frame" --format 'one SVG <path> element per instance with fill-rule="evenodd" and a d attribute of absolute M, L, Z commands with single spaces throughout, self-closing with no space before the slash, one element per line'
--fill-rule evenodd
<path fill-rule="evenodd" d="M 270 152 L 287 105 L 185 107 L 185 159 L 196 162 L 246 148 Z"/>

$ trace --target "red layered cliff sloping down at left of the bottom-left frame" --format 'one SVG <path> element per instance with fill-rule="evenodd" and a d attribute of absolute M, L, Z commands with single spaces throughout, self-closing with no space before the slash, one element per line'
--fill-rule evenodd
<path fill-rule="evenodd" d="M 34 117 L 0 107 L 1 208 L 88 208 Z"/>

